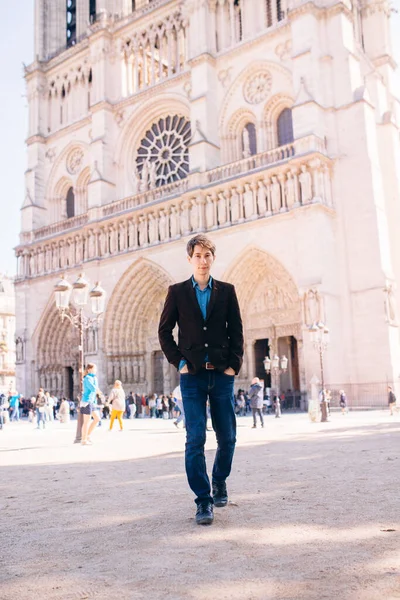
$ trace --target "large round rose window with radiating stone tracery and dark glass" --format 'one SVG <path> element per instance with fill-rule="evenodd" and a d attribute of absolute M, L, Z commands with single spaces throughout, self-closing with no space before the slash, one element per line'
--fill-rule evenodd
<path fill-rule="evenodd" d="M 190 121 L 185 117 L 168 116 L 153 123 L 137 152 L 141 179 L 149 170 L 153 172 L 156 187 L 184 179 L 189 173 L 189 142 Z"/>

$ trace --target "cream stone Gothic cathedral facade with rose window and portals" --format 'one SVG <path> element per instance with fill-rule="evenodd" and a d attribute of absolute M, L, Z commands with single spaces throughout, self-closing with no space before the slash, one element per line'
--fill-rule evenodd
<path fill-rule="evenodd" d="M 104 390 L 169 392 L 157 325 L 206 232 L 235 284 L 237 386 L 289 359 L 364 393 L 400 373 L 399 102 L 386 0 L 36 0 L 16 249 L 17 387 L 78 389 L 53 288 L 84 272 L 107 305 L 85 355 Z M 268 382 L 267 382 L 268 383 Z"/>

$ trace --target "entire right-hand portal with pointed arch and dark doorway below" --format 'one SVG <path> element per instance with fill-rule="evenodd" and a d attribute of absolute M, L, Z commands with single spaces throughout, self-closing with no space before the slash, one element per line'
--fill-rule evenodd
<path fill-rule="evenodd" d="M 243 318 L 245 357 L 239 385 L 248 386 L 254 376 L 256 343 L 264 340 L 271 356 L 289 354 L 289 368 L 298 371 L 296 385 L 305 391 L 301 298 L 290 273 L 276 258 L 253 247 L 235 259 L 224 279 L 235 285 Z"/>

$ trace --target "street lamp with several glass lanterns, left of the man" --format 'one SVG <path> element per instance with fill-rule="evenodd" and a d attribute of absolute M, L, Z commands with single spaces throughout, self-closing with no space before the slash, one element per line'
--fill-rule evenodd
<path fill-rule="evenodd" d="M 106 292 L 96 283 L 95 287 L 89 292 L 90 284 L 84 278 L 83 274 L 79 275 L 78 279 L 72 285 L 65 279 L 64 276 L 54 286 L 56 306 L 61 316 L 61 321 L 68 319 L 70 323 L 78 329 L 79 332 L 79 397 L 82 398 L 83 391 L 83 371 L 84 371 L 84 356 L 83 356 L 83 334 L 87 329 L 97 326 L 101 321 L 101 315 L 104 312 Z M 72 300 L 75 307 L 71 307 Z M 95 315 L 88 317 L 84 314 L 83 309 L 88 304 L 90 298 L 91 310 Z M 76 426 L 75 443 L 79 443 L 82 438 L 82 423 L 83 416 L 77 409 L 78 421 Z"/>

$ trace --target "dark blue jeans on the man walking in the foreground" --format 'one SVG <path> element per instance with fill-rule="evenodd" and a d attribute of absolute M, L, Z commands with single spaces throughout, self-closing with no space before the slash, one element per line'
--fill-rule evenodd
<path fill-rule="evenodd" d="M 186 422 L 185 466 L 196 504 L 212 502 L 204 445 L 206 442 L 207 399 L 218 448 L 212 471 L 213 481 L 225 481 L 232 467 L 236 444 L 236 417 L 233 375 L 202 369 L 197 375 L 181 374 L 180 385 Z"/>

